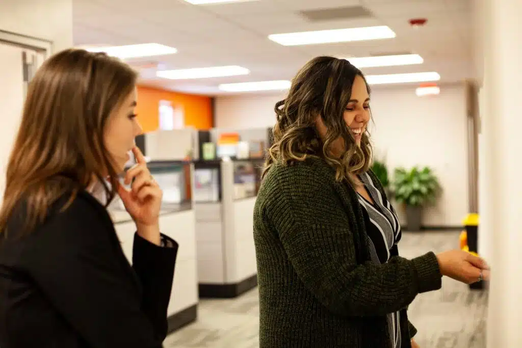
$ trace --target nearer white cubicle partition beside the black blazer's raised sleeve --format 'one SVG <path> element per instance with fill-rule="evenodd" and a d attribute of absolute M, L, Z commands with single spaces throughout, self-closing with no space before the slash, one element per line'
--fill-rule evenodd
<path fill-rule="evenodd" d="M 161 232 L 179 244 L 172 295 L 168 307 L 169 332 L 197 319 L 197 258 L 195 212 L 192 202 L 192 172 L 190 162 L 150 162 L 150 172 L 163 190 L 160 212 Z M 109 207 L 116 234 L 125 256 L 132 262 L 133 238 L 136 226 L 115 199 Z"/>

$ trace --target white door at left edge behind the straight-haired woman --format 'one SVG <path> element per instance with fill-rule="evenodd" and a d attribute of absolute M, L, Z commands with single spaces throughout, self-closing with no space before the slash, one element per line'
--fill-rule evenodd
<path fill-rule="evenodd" d="M 0 195 L 7 161 L 20 124 L 27 82 L 42 64 L 43 54 L 0 42 Z"/>

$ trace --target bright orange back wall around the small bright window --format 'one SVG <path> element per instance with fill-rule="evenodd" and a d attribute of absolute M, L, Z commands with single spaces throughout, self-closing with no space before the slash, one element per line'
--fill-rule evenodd
<path fill-rule="evenodd" d="M 169 100 L 173 105 L 183 107 L 185 126 L 193 126 L 196 129 L 212 128 L 212 98 L 138 86 L 136 113 L 145 133 L 159 127 L 160 100 Z"/>

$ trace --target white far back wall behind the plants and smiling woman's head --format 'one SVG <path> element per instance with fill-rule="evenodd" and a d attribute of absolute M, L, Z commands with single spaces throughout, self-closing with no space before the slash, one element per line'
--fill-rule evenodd
<path fill-rule="evenodd" d="M 283 94 L 218 97 L 216 126 L 272 126 L 274 104 L 282 98 Z M 375 152 L 386 156 L 390 171 L 397 166 L 428 165 L 440 178 L 444 192 L 436 207 L 424 214 L 424 225 L 460 226 L 468 213 L 464 86 L 441 86 L 440 95 L 423 98 L 415 95 L 414 87 L 375 89 L 371 106 Z"/>

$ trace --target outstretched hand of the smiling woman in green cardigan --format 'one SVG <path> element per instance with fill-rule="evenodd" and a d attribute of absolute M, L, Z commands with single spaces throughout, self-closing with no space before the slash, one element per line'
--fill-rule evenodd
<path fill-rule="evenodd" d="M 462 250 L 449 250 L 437 255 L 442 275 L 471 284 L 480 280 L 489 280 L 488 264 L 480 257 Z"/>

